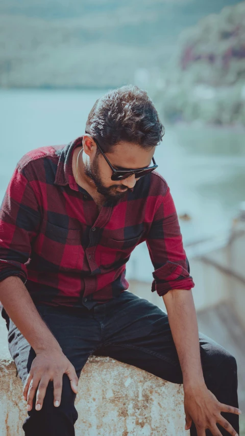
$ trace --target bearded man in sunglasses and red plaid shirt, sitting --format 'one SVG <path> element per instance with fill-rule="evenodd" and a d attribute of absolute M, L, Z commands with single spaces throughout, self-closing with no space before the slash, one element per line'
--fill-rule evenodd
<path fill-rule="evenodd" d="M 75 434 L 92 353 L 183 383 L 192 436 L 239 430 L 236 361 L 198 332 L 178 216 L 155 171 L 163 134 L 145 91 L 123 86 L 95 102 L 83 136 L 17 164 L 1 209 L 0 300 L 27 436 Z M 127 291 L 143 241 L 167 314 Z"/>

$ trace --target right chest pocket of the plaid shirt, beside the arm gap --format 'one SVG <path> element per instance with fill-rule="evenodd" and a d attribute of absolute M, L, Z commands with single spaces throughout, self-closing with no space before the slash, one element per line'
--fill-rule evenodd
<path fill-rule="evenodd" d="M 108 238 L 101 252 L 101 266 L 105 269 L 116 268 L 125 264 L 138 244 L 142 233 L 135 238 L 118 240 Z"/>

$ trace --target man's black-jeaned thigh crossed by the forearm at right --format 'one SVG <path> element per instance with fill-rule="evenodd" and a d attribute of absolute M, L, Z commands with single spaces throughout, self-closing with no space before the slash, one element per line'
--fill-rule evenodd
<path fill-rule="evenodd" d="M 97 354 L 132 364 L 173 383 L 183 382 L 168 316 L 159 307 L 131 292 L 123 292 L 113 303 L 113 310 L 108 311 L 104 324 L 105 340 Z M 201 332 L 199 342 L 208 381 L 230 355 Z"/>

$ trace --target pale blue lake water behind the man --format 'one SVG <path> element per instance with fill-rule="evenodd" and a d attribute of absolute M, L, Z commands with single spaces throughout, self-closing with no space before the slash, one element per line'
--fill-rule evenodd
<path fill-rule="evenodd" d="M 88 113 L 103 90 L 0 90 L 0 199 L 19 158 L 50 144 L 66 144 L 84 132 Z M 243 129 L 200 125 L 165 126 L 157 147 L 158 172 L 166 179 L 184 244 L 226 231 L 245 200 Z M 127 277 L 152 280 L 145 244 L 136 247 Z"/>

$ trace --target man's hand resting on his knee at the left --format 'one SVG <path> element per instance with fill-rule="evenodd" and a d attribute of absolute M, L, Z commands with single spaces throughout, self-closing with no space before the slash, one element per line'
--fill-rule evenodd
<path fill-rule="evenodd" d="M 54 405 L 58 407 L 61 400 L 63 374 L 68 375 L 71 389 L 77 394 L 78 377 L 75 368 L 61 349 L 37 353 L 23 388 L 23 398 L 27 401 L 27 410 L 32 409 L 37 388 L 35 408 L 36 410 L 42 408 L 47 384 L 50 380 L 54 381 Z"/>

